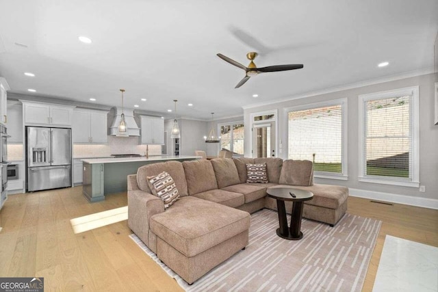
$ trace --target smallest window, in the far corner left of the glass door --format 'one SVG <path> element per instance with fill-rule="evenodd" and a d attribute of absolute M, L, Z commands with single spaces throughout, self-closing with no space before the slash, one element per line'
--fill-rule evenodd
<path fill-rule="evenodd" d="M 220 148 L 244 155 L 244 123 L 220 124 Z"/>

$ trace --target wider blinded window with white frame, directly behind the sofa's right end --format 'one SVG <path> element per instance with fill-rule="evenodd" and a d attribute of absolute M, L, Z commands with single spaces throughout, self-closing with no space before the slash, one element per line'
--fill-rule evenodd
<path fill-rule="evenodd" d="M 346 179 L 346 99 L 286 112 L 287 159 L 313 161 L 315 176 Z"/>

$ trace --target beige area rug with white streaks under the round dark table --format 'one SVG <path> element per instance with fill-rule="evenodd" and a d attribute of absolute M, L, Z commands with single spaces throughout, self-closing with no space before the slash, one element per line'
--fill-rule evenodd
<path fill-rule="evenodd" d="M 278 237 L 278 226 L 276 211 L 253 213 L 246 250 L 191 286 L 136 235 L 130 237 L 185 291 L 361 291 L 381 221 L 347 213 L 330 227 L 303 219 L 298 241 Z"/>

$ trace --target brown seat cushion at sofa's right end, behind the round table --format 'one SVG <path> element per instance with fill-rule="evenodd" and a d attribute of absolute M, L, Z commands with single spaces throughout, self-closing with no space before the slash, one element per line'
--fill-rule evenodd
<path fill-rule="evenodd" d="M 291 187 L 290 185 L 276 185 L 274 187 Z M 348 198 L 348 187 L 340 185 L 320 185 L 314 184 L 309 187 L 294 186 L 294 189 L 304 189 L 313 193 L 313 199 L 305 201 L 305 204 L 324 207 L 329 209 L 337 209 Z"/>

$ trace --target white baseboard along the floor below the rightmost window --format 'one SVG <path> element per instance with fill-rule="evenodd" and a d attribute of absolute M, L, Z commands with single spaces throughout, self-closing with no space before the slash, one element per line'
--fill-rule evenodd
<path fill-rule="evenodd" d="M 397 204 L 407 204 L 410 206 L 423 207 L 428 209 L 438 209 L 438 200 L 436 199 L 402 196 L 383 193 L 381 191 L 367 191 L 365 189 L 350 189 L 350 196 L 385 202 L 394 202 Z"/>

